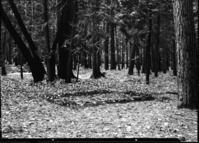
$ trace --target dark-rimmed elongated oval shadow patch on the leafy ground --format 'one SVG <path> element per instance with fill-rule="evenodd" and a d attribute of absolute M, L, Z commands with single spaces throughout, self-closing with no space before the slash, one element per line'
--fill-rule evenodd
<path fill-rule="evenodd" d="M 90 99 L 84 102 L 84 98 L 89 99 L 89 97 L 99 96 L 102 94 L 112 94 L 111 99 L 109 98 L 96 98 L 96 100 Z M 121 97 L 117 96 L 114 98 L 114 95 L 119 94 Z M 122 96 L 124 95 L 124 96 Z M 128 95 L 128 96 L 125 96 Z M 81 103 L 78 103 L 74 100 L 75 97 L 79 97 L 82 99 Z M 85 108 L 85 107 L 94 107 L 106 104 L 125 104 L 129 102 L 143 102 L 143 101 L 151 101 L 155 100 L 155 98 L 151 94 L 141 94 L 136 93 L 134 91 L 127 92 L 117 92 L 117 91 L 109 91 L 109 90 L 93 90 L 93 91 L 82 91 L 82 92 L 74 92 L 74 93 L 66 93 L 61 96 L 56 95 L 48 95 L 45 97 L 47 101 L 51 103 L 55 103 L 61 106 L 66 106 L 70 108 Z"/>

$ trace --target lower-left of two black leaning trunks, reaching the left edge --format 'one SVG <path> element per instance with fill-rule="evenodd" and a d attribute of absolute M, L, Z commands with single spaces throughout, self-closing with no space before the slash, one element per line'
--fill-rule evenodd
<path fill-rule="evenodd" d="M 21 53 L 23 54 L 24 58 L 28 62 L 28 65 L 31 69 L 34 82 L 42 81 L 44 78 L 44 74 L 41 73 L 40 70 L 38 70 L 37 62 L 35 62 L 34 58 L 28 51 L 28 48 L 23 43 L 22 39 L 20 38 L 19 34 L 14 29 L 12 23 L 10 22 L 8 16 L 6 15 L 5 11 L 3 10 L 2 6 L 1 8 L 1 19 L 3 20 L 6 28 L 8 29 L 9 33 L 12 35 L 15 43 L 17 44 L 18 48 L 20 49 Z"/>

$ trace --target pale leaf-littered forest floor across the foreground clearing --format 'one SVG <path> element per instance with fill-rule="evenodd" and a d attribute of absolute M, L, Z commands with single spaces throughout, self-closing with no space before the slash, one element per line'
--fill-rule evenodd
<path fill-rule="evenodd" d="M 179 138 L 198 141 L 197 110 L 177 108 L 177 83 L 172 72 L 127 75 L 108 70 L 106 78 L 33 83 L 7 66 L 1 77 L 2 138 Z M 18 72 L 18 73 L 16 73 Z M 76 71 L 74 71 L 76 74 Z"/>

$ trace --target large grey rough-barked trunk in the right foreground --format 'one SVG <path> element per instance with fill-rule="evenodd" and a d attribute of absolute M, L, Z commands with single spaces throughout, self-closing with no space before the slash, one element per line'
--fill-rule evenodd
<path fill-rule="evenodd" d="M 198 108 L 198 68 L 192 0 L 173 0 L 177 54 L 178 107 Z"/>

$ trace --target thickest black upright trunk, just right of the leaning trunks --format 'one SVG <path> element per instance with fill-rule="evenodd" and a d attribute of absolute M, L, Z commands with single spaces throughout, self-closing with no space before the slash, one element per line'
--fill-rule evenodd
<path fill-rule="evenodd" d="M 70 60 L 70 50 L 71 46 L 69 44 L 64 45 L 65 40 L 69 40 L 71 36 L 73 36 L 73 26 L 71 23 L 74 22 L 75 18 L 75 1 L 69 0 L 67 3 L 63 0 L 62 1 L 63 5 L 65 4 L 60 23 L 58 25 L 58 29 L 60 31 L 60 37 L 59 37 L 59 42 L 58 42 L 58 50 L 59 50 L 59 65 L 58 65 L 58 76 L 61 79 L 65 79 L 65 81 L 70 81 L 70 79 L 66 78 L 73 78 L 75 77 L 72 68 L 67 67 L 67 65 L 71 66 L 71 64 L 68 64 L 68 60 Z M 69 69 L 67 69 L 69 68 Z M 71 73 L 71 76 L 66 76 L 67 71 L 70 70 L 69 72 Z"/>

